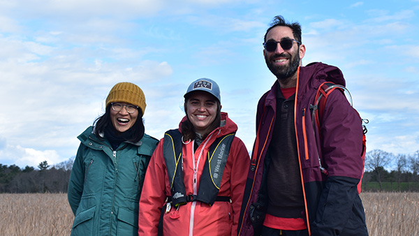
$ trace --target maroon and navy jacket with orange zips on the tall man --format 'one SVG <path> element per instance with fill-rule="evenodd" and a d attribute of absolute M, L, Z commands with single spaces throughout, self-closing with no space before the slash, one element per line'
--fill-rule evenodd
<path fill-rule="evenodd" d="M 322 63 L 298 68 L 295 94 L 295 133 L 300 161 L 305 212 L 302 216 L 310 235 L 367 235 L 365 213 L 358 196 L 363 161 L 362 124 L 358 112 L 344 94 L 335 90 L 328 96 L 321 122 L 322 138 L 315 138 L 311 108 L 318 86 L 325 81 L 345 86 L 344 77 L 335 66 Z M 260 235 L 267 207 L 266 174 L 276 112 L 277 83 L 258 103 L 256 140 L 251 156 L 242 211 L 237 233 Z M 317 134 L 319 132 L 316 132 Z M 317 150 L 316 139 L 320 145 Z M 321 165 L 328 170 L 325 175 Z"/>

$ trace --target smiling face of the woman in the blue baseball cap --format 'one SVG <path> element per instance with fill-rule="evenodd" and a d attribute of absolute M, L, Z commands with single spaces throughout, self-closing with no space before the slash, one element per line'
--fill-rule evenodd
<path fill-rule="evenodd" d="M 195 131 L 207 134 L 218 111 L 217 100 L 206 91 L 194 91 L 186 100 L 186 116 Z"/>

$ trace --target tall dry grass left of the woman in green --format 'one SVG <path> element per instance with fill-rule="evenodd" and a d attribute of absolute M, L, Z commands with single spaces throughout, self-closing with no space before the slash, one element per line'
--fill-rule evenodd
<path fill-rule="evenodd" d="M 0 194 L 0 235 L 70 235 L 73 219 L 66 193 Z"/>

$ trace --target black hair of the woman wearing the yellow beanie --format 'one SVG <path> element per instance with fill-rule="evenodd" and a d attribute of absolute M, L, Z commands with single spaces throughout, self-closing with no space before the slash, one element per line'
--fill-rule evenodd
<path fill-rule="evenodd" d="M 93 122 L 93 126 L 95 126 L 94 134 L 100 139 L 102 139 L 100 134 L 105 133 L 105 129 L 108 128 L 108 126 L 115 128 L 112 124 L 112 121 L 110 120 L 110 105 L 108 105 L 108 108 L 106 108 L 105 114 L 101 115 Z M 140 141 L 144 135 L 144 123 L 142 121 L 141 109 L 138 109 L 137 120 L 130 129 L 132 129 L 131 133 L 133 135 L 131 138 L 128 138 L 127 141 L 134 143 Z"/>

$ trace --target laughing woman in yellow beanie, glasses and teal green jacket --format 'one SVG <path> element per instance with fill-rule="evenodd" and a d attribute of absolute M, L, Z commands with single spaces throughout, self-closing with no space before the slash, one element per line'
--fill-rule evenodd
<path fill-rule="evenodd" d="M 115 84 L 105 114 L 78 136 L 68 184 L 71 235 L 137 235 L 142 183 L 159 142 L 145 134 L 145 106 L 140 87 Z"/>

